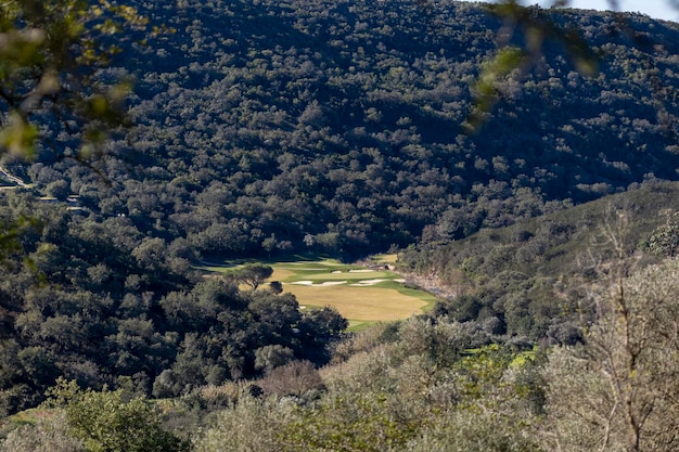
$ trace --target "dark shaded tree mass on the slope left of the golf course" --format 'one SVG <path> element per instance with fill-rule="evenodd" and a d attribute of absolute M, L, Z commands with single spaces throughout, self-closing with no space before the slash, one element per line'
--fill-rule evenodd
<path fill-rule="evenodd" d="M 185 241 L 127 218 L 93 221 L 18 192 L 2 203 L 3 220 L 36 222 L 20 237 L 28 264 L 1 270 L 4 412 L 35 405 L 60 375 L 171 397 L 256 374 L 261 348 L 322 364 L 346 326 L 330 309 L 302 313 L 290 294 L 204 279 Z"/>

